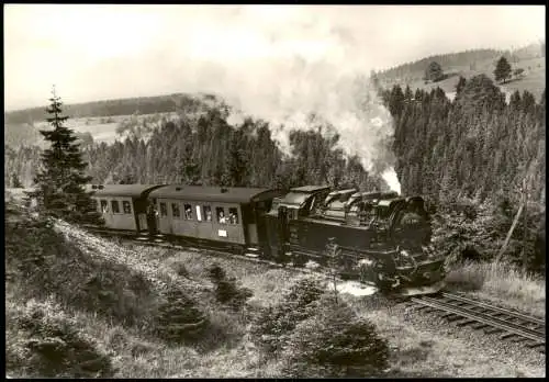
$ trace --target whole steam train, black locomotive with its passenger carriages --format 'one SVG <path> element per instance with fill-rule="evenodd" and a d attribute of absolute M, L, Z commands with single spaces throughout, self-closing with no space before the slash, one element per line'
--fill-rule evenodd
<path fill-rule="evenodd" d="M 105 228 L 303 266 L 403 294 L 439 291 L 421 196 L 306 186 L 288 192 L 184 184 L 89 186 Z"/>

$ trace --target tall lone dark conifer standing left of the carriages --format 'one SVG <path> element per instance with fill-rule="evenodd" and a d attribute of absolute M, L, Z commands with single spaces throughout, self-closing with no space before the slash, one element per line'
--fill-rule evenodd
<path fill-rule="evenodd" d="M 54 128 L 40 131 L 51 147 L 42 154 L 43 168 L 34 178 L 35 191 L 27 195 L 36 200 L 38 210 L 45 215 L 74 223 L 101 223 L 90 193 L 83 188 L 91 177 L 85 175 L 88 164 L 82 160 L 80 145 L 76 143 L 78 137 L 64 126 L 68 116 L 61 114 L 63 103 L 55 88 L 52 93 L 52 104 L 46 112 L 51 115 L 47 122 Z"/>

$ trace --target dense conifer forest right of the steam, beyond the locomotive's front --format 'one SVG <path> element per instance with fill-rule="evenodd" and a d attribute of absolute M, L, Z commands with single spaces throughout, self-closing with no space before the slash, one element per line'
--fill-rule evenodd
<path fill-rule="evenodd" d="M 383 91 L 383 99 L 395 120 L 402 190 L 430 202 L 438 250 L 455 260 L 494 261 L 523 205 L 528 212 L 513 231 L 505 259 L 545 272 L 545 91 L 539 102 L 527 91 L 515 92 L 507 104 L 500 88 L 480 75 L 460 78 L 453 101 L 440 88 L 414 92 L 400 86 Z"/>

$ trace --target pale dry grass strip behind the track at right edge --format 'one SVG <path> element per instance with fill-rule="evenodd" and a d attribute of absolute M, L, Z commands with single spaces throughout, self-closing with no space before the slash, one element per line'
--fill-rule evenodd
<path fill-rule="evenodd" d="M 466 262 L 448 273 L 450 289 L 545 317 L 546 283 L 505 263 Z"/>

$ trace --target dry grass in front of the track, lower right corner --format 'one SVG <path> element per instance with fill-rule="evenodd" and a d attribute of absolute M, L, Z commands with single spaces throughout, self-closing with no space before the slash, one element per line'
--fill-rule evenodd
<path fill-rule="evenodd" d="M 436 325 L 417 325 L 402 305 L 379 296 L 345 299 L 357 313 L 378 327 L 391 347 L 390 378 L 460 378 L 460 377 L 541 377 L 545 368 L 508 362 L 490 348 L 449 336 L 434 329 Z M 441 326 L 447 326 L 442 323 Z"/>

